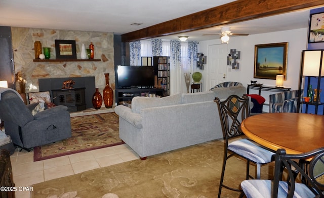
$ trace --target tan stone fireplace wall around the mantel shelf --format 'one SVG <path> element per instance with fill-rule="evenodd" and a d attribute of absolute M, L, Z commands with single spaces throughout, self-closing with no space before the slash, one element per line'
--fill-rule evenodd
<path fill-rule="evenodd" d="M 39 91 L 38 78 L 94 76 L 96 87 L 102 93 L 105 87 L 104 73 L 109 73 L 109 85 L 115 89 L 113 33 L 23 27 L 12 27 L 11 31 L 15 73 L 22 72 L 26 79 L 25 92 Z M 80 59 L 82 43 L 89 48 L 90 42 L 93 42 L 94 58 L 101 59 L 101 62 L 33 62 L 34 41 L 41 41 L 42 47 L 51 47 L 50 59 L 56 59 L 56 39 L 75 40 L 77 59 Z"/>

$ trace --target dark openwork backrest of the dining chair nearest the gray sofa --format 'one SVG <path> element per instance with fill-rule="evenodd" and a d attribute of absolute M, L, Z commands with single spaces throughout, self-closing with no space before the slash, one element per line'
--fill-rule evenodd
<path fill-rule="evenodd" d="M 240 124 L 242 120 L 250 116 L 249 98 L 247 95 L 242 97 L 230 95 L 225 101 L 220 101 L 216 97 L 215 102 L 218 105 L 219 117 L 227 146 L 229 138 L 243 134 Z"/>

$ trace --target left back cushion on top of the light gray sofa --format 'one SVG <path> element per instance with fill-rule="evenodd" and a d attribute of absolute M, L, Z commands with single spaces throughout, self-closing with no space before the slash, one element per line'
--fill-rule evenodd
<path fill-rule="evenodd" d="M 151 107 L 163 107 L 181 104 L 181 93 L 170 95 L 167 97 L 142 97 L 136 96 L 132 99 L 132 112 L 140 113 L 141 109 Z"/>

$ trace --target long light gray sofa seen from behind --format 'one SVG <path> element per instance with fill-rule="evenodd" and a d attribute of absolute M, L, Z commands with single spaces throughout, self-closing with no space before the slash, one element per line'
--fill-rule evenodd
<path fill-rule="evenodd" d="M 132 107 L 114 108 L 119 137 L 141 159 L 182 147 L 223 138 L 215 97 L 243 95 L 246 87 L 219 87 L 213 91 L 178 93 L 152 98 L 136 96 Z"/>

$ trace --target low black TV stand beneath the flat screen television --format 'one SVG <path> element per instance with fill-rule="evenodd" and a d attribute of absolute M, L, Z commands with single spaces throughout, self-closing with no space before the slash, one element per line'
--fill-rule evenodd
<path fill-rule="evenodd" d="M 147 94 L 155 94 L 160 97 L 164 95 L 164 89 L 157 88 L 128 88 L 128 89 L 115 89 L 115 101 L 117 105 L 121 105 L 121 103 L 132 101 L 135 96 L 146 96 Z"/>

